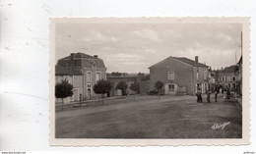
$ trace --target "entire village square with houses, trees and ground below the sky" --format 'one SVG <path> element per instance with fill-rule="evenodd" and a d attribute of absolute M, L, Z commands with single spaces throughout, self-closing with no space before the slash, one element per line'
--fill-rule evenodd
<path fill-rule="evenodd" d="M 58 60 L 56 137 L 241 137 L 242 57 L 212 70 L 198 56 L 170 56 L 149 70 L 107 73 L 98 55 L 82 52 Z"/>

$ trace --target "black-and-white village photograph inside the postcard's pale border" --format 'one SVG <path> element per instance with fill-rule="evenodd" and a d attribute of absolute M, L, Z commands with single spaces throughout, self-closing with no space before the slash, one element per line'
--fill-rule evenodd
<path fill-rule="evenodd" d="M 54 25 L 55 138 L 242 139 L 242 23 L 138 20 Z"/>

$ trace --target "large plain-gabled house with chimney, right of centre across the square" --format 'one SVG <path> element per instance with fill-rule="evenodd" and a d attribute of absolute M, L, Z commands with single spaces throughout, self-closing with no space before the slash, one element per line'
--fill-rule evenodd
<path fill-rule="evenodd" d="M 206 93 L 209 89 L 208 66 L 199 63 L 197 56 L 195 61 L 170 56 L 149 69 L 151 89 L 160 80 L 165 94 L 195 94 L 199 88 Z"/>

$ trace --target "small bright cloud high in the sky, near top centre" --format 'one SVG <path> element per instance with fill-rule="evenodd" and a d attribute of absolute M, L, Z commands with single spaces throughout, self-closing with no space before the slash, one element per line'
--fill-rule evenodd
<path fill-rule="evenodd" d="M 141 30 L 134 30 L 131 32 L 135 37 L 146 38 L 153 41 L 160 41 L 158 33 L 153 29 L 141 29 Z"/>

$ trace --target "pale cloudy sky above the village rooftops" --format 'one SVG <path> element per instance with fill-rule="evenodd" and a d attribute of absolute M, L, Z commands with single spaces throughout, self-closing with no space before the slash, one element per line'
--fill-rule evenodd
<path fill-rule="evenodd" d="M 169 56 L 199 56 L 216 70 L 239 60 L 241 30 L 240 24 L 57 24 L 55 62 L 83 52 L 102 59 L 107 73 L 149 73 Z"/>

